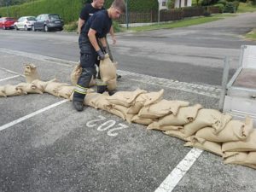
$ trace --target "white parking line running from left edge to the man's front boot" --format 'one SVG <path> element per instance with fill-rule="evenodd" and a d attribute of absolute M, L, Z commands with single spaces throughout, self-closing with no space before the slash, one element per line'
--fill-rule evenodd
<path fill-rule="evenodd" d="M 47 110 L 49 110 L 50 108 L 55 108 L 56 106 L 61 105 L 61 104 L 64 103 L 64 102 L 69 102 L 69 100 L 65 99 L 65 100 L 63 100 L 63 101 L 61 101 L 61 102 L 56 102 L 55 104 L 49 105 L 48 107 L 45 107 L 45 108 L 41 108 L 41 109 L 39 109 L 39 110 L 36 111 L 36 112 L 27 114 L 26 116 L 21 117 L 20 119 L 15 119 L 14 121 L 9 122 L 8 124 L 5 124 L 5 125 L 0 126 L 0 131 L 3 131 L 3 130 L 5 130 L 5 129 L 7 129 L 7 128 L 9 128 L 10 126 L 16 125 L 16 124 L 20 123 L 21 121 L 24 121 L 24 120 L 26 120 L 26 119 L 32 118 L 33 116 L 35 116 L 35 115 L 37 115 L 37 114 L 39 114 L 39 113 L 43 113 L 44 111 L 47 111 Z"/>

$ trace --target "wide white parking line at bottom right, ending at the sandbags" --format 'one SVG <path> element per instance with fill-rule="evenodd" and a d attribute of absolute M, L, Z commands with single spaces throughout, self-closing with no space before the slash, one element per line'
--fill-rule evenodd
<path fill-rule="evenodd" d="M 154 192 L 171 192 L 202 152 L 199 148 L 192 148 Z"/>

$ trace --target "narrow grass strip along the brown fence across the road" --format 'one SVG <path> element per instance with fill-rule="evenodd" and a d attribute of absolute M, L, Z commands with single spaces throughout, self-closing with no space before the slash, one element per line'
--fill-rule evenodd
<path fill-rule="evenodd" d="M 177 28 L 177 27 L 199 25 L 202 23 L 212 22 L 214 20 L 220 20 L 223 18 L 224 17 L 222 16 L 214 15 L 211 17 L 199 17 L 199 18 L 193 18 L 193 19 L 177 20 L 177 21 L 173 21 L 172 23 L 162 23 L 160 25 L 154 24 L 151 26 L 135 26 L 135 27 L 130 27 L 128 30 L 133 32 L 143 32 L 143 31 L 156 30 L 156 29 L 171 29 L 171 28 Z"/>

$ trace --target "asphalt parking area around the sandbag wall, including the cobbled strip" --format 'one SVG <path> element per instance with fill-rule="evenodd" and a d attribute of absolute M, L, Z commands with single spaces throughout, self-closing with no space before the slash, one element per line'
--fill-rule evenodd
<path fill-rule="evenodd" d="M 0 85 L 25 82 L 25 63 L 43 80 L 70 84 L 75 62 L 0 50 Z M 164 89 L 164 98 L 218 108 L 219 86 L 119 70 L 119 90 Z M 191 89 L 192 87 L 192 89 Z M 0 191 L 256 191 L 255 170 L 95 108 L 76 112 L 49 94 L 0 98 Z M 106 126 L 108 125 L 108 126 Z"/>

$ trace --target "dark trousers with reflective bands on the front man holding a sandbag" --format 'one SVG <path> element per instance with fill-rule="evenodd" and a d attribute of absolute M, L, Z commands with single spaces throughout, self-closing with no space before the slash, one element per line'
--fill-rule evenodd
<path fill-rule="evenodd" d="M 102 82 L 100 73 L 96 74 L 95 65 L 99 66 L 100 61 L 97 59 L 96 50 L 90 44 L 88 37 L 84 37 L 83 35 L 79 36 L 79 48 L 82 73 L 73 93 L 73 101 L 84 102 L 84 97 L 92 77 L 97 76 L 96 83 L 98 93 L 103 93 L 107 90 L 107 84 Z"/>

